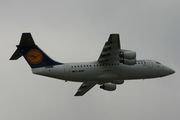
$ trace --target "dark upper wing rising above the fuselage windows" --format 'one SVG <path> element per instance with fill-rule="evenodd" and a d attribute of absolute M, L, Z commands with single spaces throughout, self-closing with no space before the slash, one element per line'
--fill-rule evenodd
<path fill-rule="evenodd" d="M 118 61 L 119 58 L 119 50 L 120 39 L 119 34 L 110 34 L 108 41 L 105 43 L 104 48 L 99 56 L 98 61 Z"/>

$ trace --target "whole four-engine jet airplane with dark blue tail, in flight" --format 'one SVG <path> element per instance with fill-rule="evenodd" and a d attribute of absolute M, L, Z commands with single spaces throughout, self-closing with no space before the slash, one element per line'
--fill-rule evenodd
<path fill-rule="evenodd" d="M 96 84 L 107 91 L 125 80 L 164 77 L 175 71 L 155 60 L 136 60 L 136 52 L 121 49 L 119 34 L 110 34 L 96 61 L 61 63 L 51 59 L 34 42 L 31 33 L 22 33 L 19 45 L 10 60 L 21 56 L 33 74 L 71 82 L 82 82 L 74 96 L 83 96 Z"/>

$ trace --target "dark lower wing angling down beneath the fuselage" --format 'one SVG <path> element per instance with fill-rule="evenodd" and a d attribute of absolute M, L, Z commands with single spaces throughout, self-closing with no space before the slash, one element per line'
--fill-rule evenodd
<path fill-rule="evenodd" d="M 83 82 L 83 84 L 79 87 L 77 93 L 74 96 L 83 96 L 87 91 L 89 91 L 95 85 L 96 83 L 94 82 Z"/>

